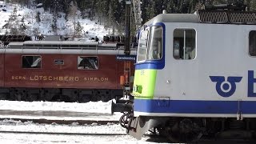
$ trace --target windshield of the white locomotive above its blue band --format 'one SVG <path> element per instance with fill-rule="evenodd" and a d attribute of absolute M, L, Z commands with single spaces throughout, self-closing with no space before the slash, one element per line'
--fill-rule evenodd
<path fill-rule="evenodd" d="M 143 30 L 138 43 L 138 62 L 162 58 L 162 26 Z"/>

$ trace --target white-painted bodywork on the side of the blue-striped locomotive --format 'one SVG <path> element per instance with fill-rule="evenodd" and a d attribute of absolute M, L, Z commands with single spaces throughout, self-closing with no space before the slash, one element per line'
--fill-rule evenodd
<path fill-rule="evenodd" d="M 177 17 L 177 14 L 173 14 Z M 195 14 L 186 14 L 193 17 Z M 248 70 L 255 70 L 254 57 L 249 54 L 249 33 L 256 30 L 254 25 L 210 24 L 193 22 L 162 22 L 165 27 L 165 66 L 157 70 L 154 90 L 155 100 L 170 101 L 256 101 L 256 97 L 248 97 Z M 156 18 L 146 25 L 158 23 Z M 161 21 L 159 21 L 161 22 Z M 174 30 L 193 29 L 195 37 L 195 58 L 184 60 L 173 56 Z M 236 90 L 230 97 L 220 96 L 216 82 L 210 76 L 242 77 L 236 83 Z M 256 74 L 254 74 L 256 78 Z M 225 79 L 226 80 L 226 79 Z M 256 92 L 256 86 L 254 86 Z M 135 103 L 136 105 L 136 103 Z M 236 117 L 237 114 L 179 114 L 179 113 L 147 113 L 134 110 L 134 116 L 194 116 L 194 117 Z M 244 117 L 255 117 L 255 114 L 244 114 Z"/>

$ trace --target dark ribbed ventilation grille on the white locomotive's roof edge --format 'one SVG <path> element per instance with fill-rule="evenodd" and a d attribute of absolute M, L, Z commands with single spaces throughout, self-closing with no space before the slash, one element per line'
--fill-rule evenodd
<path fill-rule="evenodd" d="M 252 12 L 198 10 L 198 17 L 200 22 L 256 24 L 256 16 Z"/>

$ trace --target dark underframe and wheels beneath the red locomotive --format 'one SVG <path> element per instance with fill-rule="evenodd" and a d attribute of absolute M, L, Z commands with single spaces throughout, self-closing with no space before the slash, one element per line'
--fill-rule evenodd
<path fill-rule="evenodd" d="M 0 88 L 0 99 L 11 101 L 108 102 L 122 98 L 123 90 L 64 88 Z"/>

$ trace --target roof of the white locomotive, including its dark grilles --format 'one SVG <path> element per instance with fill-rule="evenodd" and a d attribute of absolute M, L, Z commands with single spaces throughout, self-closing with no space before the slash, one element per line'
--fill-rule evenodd
<path fill-rule="evenodd" d="M 250 11 L 198 10 L 194 14 L 158 14 L 146 26 L 154 22 L 192 22 L 256 25 L 256 13 Z"/>

